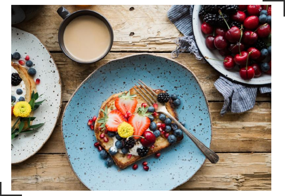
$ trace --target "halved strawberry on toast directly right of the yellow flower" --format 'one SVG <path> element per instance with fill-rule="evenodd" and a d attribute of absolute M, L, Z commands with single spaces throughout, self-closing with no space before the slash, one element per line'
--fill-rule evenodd
<path fill-rule="evenodd" d="M 128 123 L 134 127 L 134 135 L 142 136 L 143 132 L 146 131 L 150 125 L 150 120 L 147 117 L 152 113 L 147 112 L 148 107 L 139 107 L 136 114 L 130 116 Z M 139 139 L 139 137 L 134 137 Z"/>

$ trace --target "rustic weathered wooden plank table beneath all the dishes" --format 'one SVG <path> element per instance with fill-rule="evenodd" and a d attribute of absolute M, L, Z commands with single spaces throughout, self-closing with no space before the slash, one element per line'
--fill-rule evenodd
<path fill-rule="evenodd" d="M 183 36 L 168 20 L 165 6 L 92 6 L 112 24 L 114 44 L 111 52 L 91 66 L 78 65 L 61 53 L 58 30 L 62 19 L 59 6 L 45 6 L 43 12 L 16 27 L 39 37 L 58 65 L 62 81 L 61 116 L 52 136 L 32 158 L 12 168 L 12 190 L 87 190 L 72 172 L 61 137 L 62 111 L 72 93 L 96 68 L 110 60 L 132 53 L 155 53 L 170 58 L 173 42 Z M 65 6 L 70 12 L 75 6 Z M 196 74 L 209 102 L 212 115 L 211 148 L 220 161 L 204 166 L 176 190 L 271 190 L 271 98 L 258 94 L 253 109 L 242 114 L 220 110 L 223 96 L 213 83 L 219 73 L 194 55 L 181 54 L 177 59 Z M 72 77 L 72 80 L 70 79 Z"/>

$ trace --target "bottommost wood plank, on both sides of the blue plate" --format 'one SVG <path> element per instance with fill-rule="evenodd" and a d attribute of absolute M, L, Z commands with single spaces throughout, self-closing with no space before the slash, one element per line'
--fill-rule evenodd
<path fill-rule="evenodd" d="M 271 153 L 222 153 L 176 190 L 271 190 Z M 11 167 L 12 190 L 87 190 L 65 154 L 36 154 Z M 135 172 L 135 171 L 134 171 Z"/>

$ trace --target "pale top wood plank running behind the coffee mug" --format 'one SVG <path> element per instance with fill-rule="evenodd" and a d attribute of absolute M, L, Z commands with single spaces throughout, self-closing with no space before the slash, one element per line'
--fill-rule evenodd
<path fill-rule="evenodd" d="M 62 19 L 57 14 L 60 5 L 45 5 L 32 20 L 15 25 L 39 37 L 49 51 L 61 51 L 58 30 Z M 65 5 L 72 13 L 74 5 Z M 130 11 L 130 7 L 134 10 Z M 168 20 L 170 5 L 94 5 L 87 9 L 105 16 L 114 31 L 112 51 L 173 51 L 174 40 L 183 36 Z"/>

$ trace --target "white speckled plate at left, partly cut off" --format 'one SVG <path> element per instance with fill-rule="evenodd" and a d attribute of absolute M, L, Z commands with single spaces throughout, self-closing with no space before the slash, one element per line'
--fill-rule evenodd
<path fill-rule="evenodd" d="M 11 142 L 14 146 L 11 148 L 11 163 L 15 164 L 33 156 L 50 137 L 61 111 L 61 78 L 51 54 L 36 36 L 14 27 L 11 31 L 11 53 L 19 52 L 21 59 L 27 54 L 30 56 L 37 70 L 34 79 L 41 79 L 37 91 L 43 95 L 39 100 L 46 100 L 34 112 L 37 118 L 33 122 L 33 124 L 45 123 L 45 125 L 36 132 L 20 134 Z"/>

